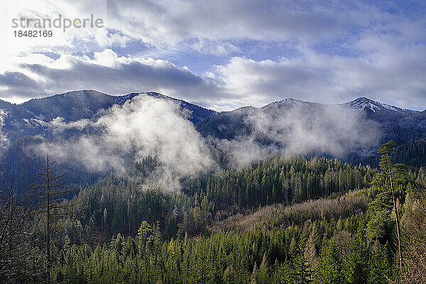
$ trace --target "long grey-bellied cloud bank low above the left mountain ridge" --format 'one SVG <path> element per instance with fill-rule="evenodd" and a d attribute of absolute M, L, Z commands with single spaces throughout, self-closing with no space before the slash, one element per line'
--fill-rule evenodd
<path fill-rule="evenodd" d="M 105 53 L 111 55 L 110 50 Z M 109 59 L 116 60 L 114 56 Z M 114 65 L 76 57 L 68 57 L 66 61 L 67 67 L 62 69 L 43 64 L 20 65 L 21 69 L 40 77 L 38 81 L 22 72 L 6 72 L 0 77 L 0 85 L 7 89 L 0 91 L 0 97 L 42 97 L 73 89 L 97 89 L 108 94 L 160 90 L 175 97 L 205 101 L 219 97 L 219 89 L 212 82 L 163 60 L 125 58 Z"/>

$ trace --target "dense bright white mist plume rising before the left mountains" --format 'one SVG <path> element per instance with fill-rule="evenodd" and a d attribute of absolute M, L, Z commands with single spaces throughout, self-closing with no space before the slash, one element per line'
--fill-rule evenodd
<path fill-rule="evenodd" d="M 57 137 L 70 129 L 82 134 L 35 147 L 39 155 L 48 154 L 59 163 L 91 173 L 124 172 L 131 163 L 155 157 L 160 166 L 146 184 L 175 190 L 180 178 L 194 177 L 214 166 L 209 148 L 187 120 L 189 115 L 175 102 L 141 94 L 102 111 L 93 121 L 53 119 L 45 126 Z"/>

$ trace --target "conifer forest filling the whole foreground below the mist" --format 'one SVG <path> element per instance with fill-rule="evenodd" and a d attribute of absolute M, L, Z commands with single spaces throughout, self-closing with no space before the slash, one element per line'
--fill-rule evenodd
<path fill-rule="evenodd" d="M 422 283 L 425 170 L 384 149 L 380 169 L 271 155 L 180 192 L 143 187 L 160 163 L 148 157 L 58 200 L 49 221 L 9 191 L 0 279 L 43 283 L 49 267 L 51 283 Z"/>

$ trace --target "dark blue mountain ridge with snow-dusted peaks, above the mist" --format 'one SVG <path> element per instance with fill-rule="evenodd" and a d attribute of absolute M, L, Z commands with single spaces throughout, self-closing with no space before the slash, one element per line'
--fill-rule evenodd
<path fill-rule="evenodd" d="M 382 128 L 389 134 L 386 137 L 393 138 L 397 143 L 406 142 L 406 137 L 410 137 L 410 139 L 423 138 L 422 131 L 426 131 L 426 126 L 424 126 L 426 124 L 426 111 L 402 109 L 367 97 L 358 97 L 350 102 L 339 104 L 322 104 L 286 98 L 271 102 L 263 107 L 247 106 L 218 112 L 158 92 L 133 92 L 121 96 L 112 96 L 95 90 L 65 92 L 50 97 L 31 99 L 22 104 L 0 101 L 0 109 L 3 111 L 1 130 L 9 141 L 14 141 L 23 136 L 43 135 L 45 130 L 34 121 L 49 122 L 58 116 L 62 117 L 64 121 L 94 119 L 99 110 L 109 109 L 114 104 L 124 104 L 124 102 L 139 95 L 170 99 L 177 102 L 182 109 L 190 111 L 192 116 L 189 120 L 204 137 L 233 138 L 238 136 L 237 134 L 249 133 L 250 129 L 246 126 L 245 119 L 249 114 L 257 114 L 259 111 L 280 116 L 290 109 L 303 109 L 305 113 L 316 113 L 321 116 L 324 115 L 322 112 L 329 107 L 361 111 L 367 119 L 372 119 L 381 124 Z M 395 133 L 403 133 L 403 135 Z"/>

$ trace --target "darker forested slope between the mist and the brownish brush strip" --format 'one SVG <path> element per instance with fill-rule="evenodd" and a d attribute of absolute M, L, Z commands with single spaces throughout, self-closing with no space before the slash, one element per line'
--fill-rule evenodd
<path fill-rule="evenodd" d="M 198 234 L 205 226 L 235 212 L 251 212 L 268 204 L 294 204 L 367 187 L 376 170 L 339 160 L 271 156 L 243 170 L 229 169 L 183 181 L 182 192 L 142 190 L 139 182 L 154 168 L 146 158 L 128 170 L 87 187 L 76 198 L 88 204 L 80 214 L 112 234 L 135 235 L 142 220 L 160 222 L 168 237 Z M 135 182 L 136 181 L 136 182 Z M 178 232 L 178 229 L 180 231 Z"/>

